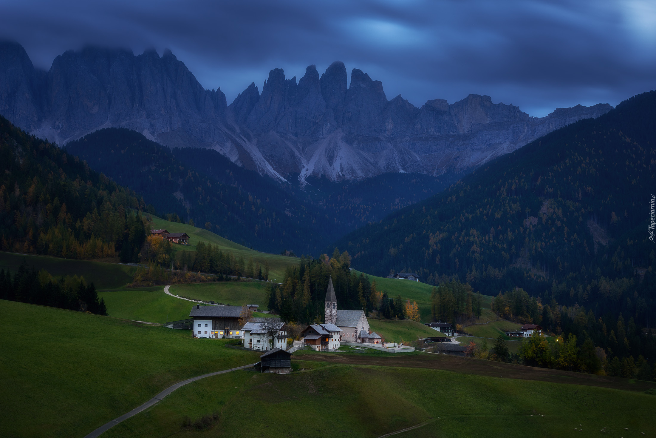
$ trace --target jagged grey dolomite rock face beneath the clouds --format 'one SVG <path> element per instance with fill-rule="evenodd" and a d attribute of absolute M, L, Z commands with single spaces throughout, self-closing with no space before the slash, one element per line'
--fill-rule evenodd
<path fill-rule="evenodd" d="M 0 43 L 0 114 L 58 144 L 102 127 L 127 127 L 165 146 L 214 148 L 233 162 L 286 181 L 299 174 L 331 180 L 385 172 L 468 171 L 546 133 L 611 110 L 609 104 L 557 108 L 534 118 L 518 107 L 469 95 L 417 108 L 388 100 L 380 81 L 333 62 L 319 77 L 271 70 L 227 106 L 171 51 L 90 47 L 36 70 L 18 43 Z"/>

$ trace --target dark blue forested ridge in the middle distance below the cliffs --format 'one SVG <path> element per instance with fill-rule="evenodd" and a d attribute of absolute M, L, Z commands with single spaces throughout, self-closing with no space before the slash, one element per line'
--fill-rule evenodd
<path fill-rule="evenodd" d="M 115 128 L 70 142 L 66 150 L 146 196 L 160 215 L 175 213 L 184 222 L 191 219 L 244 246 L 314 252 L 325 244 L 327 217 L 292 202 L 272 180 L 232 164 L 216 151 L 171 152 L 140 133 Z M 212 170 L 211 176 L 186 164 L 198 160 Z"/>

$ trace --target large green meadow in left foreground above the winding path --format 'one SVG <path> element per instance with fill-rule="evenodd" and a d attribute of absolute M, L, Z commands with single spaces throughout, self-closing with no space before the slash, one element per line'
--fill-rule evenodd
<path fill-rule="evenodd" d="M 173 382 L 257 357 L 187 330 L 13 301 L 0 300 L 0 328 L 4 437 L 81 437 Z"/>

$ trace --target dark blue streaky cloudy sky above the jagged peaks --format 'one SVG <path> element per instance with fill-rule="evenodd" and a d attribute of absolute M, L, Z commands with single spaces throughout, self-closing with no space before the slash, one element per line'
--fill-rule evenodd
<path fill-rule="evenodd" d="M 93 44 L 164 48 L 230 102 L 268 70 L 302 76 L 333 60 L 383 82 L 388 99 L 486 94 L 543 116 L 613 105 L 656 85 L 653 1 L 22 1 L 0 33 L 49 68 Z"/>

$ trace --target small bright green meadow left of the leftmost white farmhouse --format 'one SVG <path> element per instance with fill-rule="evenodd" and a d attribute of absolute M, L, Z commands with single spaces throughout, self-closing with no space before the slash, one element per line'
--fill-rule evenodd
<path fill-rule="evenodd" d="M 193 303 L 164 293 L 164 286 L 98 292 L 110 317 L 147 322 L 169 322 L 189 318 Z"/>

